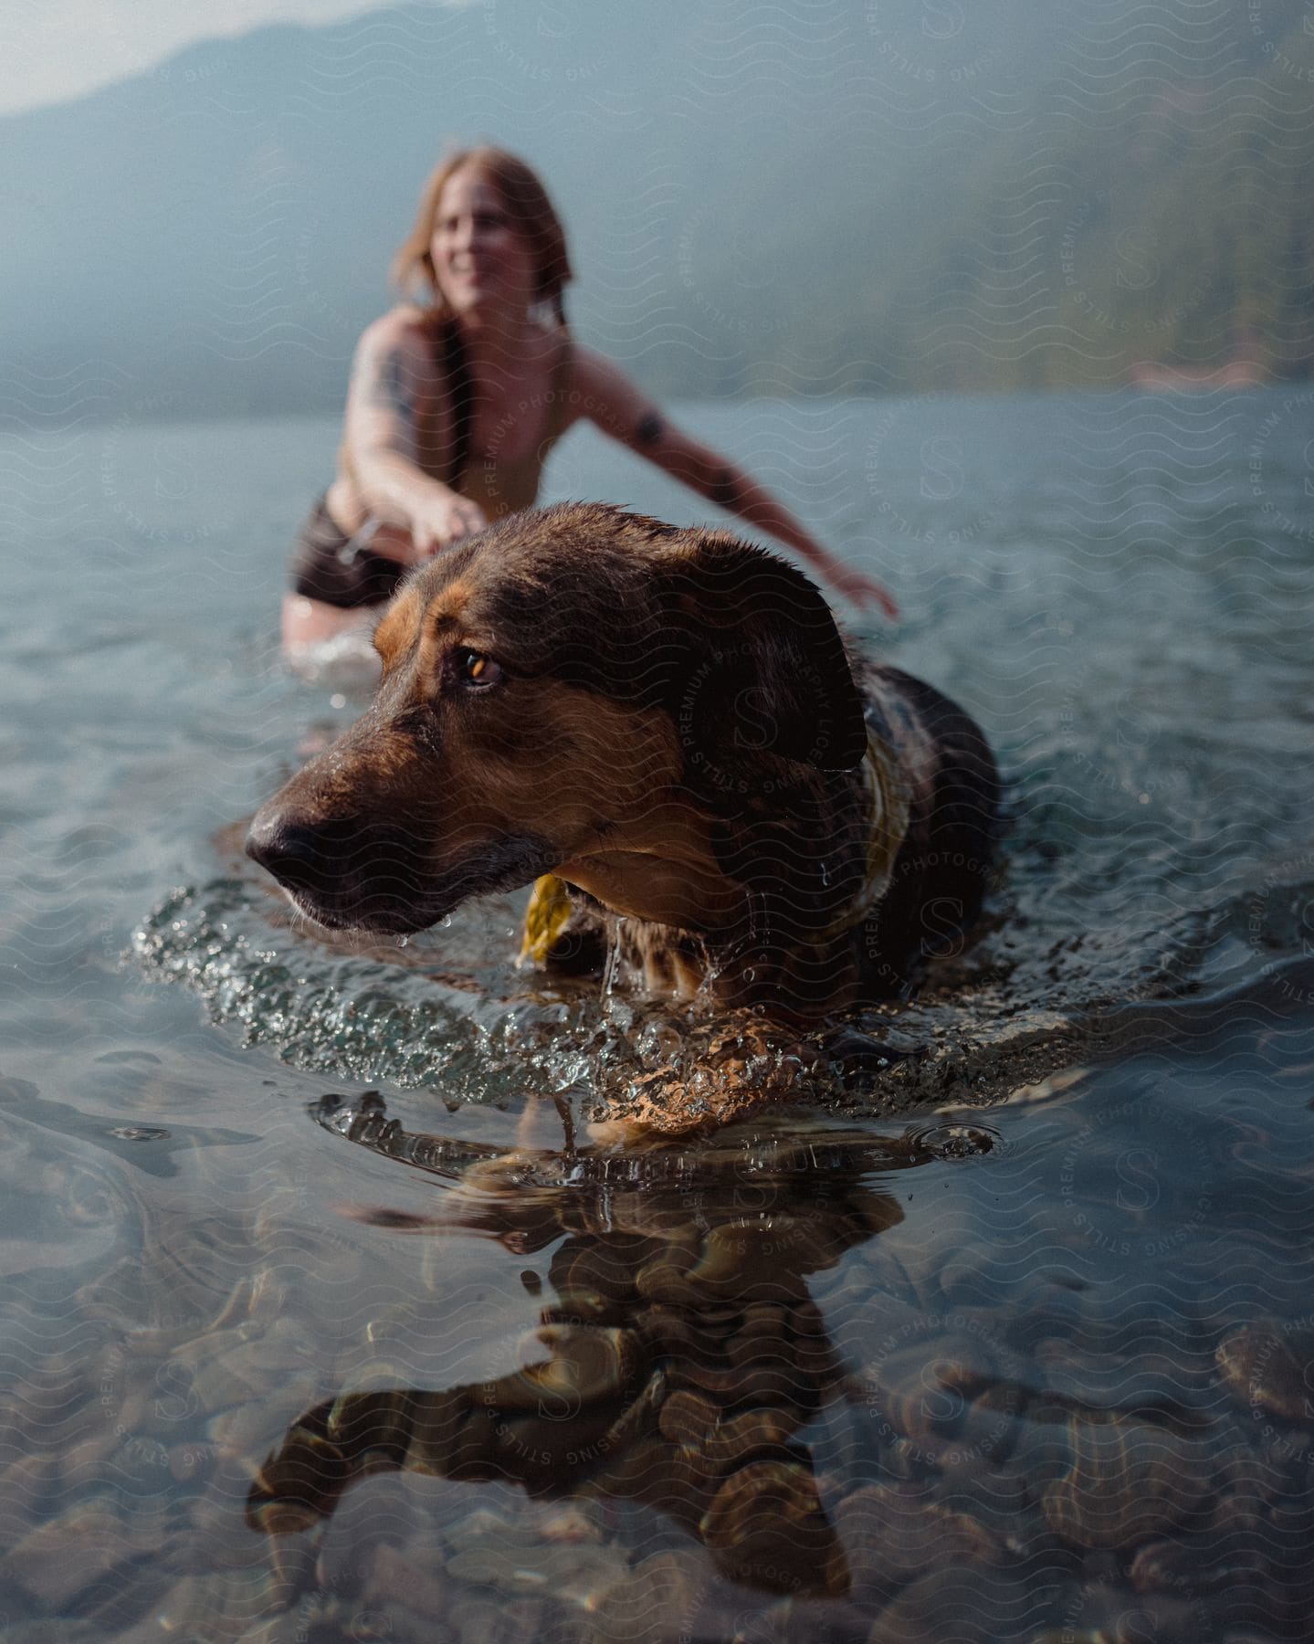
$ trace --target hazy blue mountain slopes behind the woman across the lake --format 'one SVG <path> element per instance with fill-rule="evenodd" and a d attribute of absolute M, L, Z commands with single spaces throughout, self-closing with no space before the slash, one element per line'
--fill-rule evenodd
<path fill-rule="evenodd" d="M 1304 0 L 470 0 L 0 120 L 0 409 L 329 409 L 426 171 L 495 140 L 663 393 L 1314 358 Z"/>

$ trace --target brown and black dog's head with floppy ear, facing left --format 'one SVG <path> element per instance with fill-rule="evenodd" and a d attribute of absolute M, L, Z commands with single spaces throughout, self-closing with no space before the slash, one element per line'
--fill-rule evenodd
<path fill-rule="evenodd" d="M 327 926 L 419 931 L 562 865 L 656 863 L 719 794 L 799 763 L 849 769 L 865 750 L 807 577 L 595 503 L 513 515 L 447 551 L 398 592 L 375 646 L 372 709 L 247 840 Z"/>

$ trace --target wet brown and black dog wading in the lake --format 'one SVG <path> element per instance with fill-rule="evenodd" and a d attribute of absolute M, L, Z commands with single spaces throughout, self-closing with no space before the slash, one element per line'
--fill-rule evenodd
<path fill-rule="evenodd" d="M 855 659 L 763 549 L 597 503 L 513 515 L 416 572 L 375 646 L 373 707 L 247 840 L 324 926 L 419 931 L 554 875 L 584 894 L 548 963 L 605 929 L 655 991 L 804 1024 L 906 993 L 980 906 L 982 733 Z"/>

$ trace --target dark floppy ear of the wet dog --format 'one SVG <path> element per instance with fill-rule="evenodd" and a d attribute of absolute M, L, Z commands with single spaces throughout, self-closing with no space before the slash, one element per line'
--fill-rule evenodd
<path fill-rule="evenodd" d="M 821 590 L 776 554 L 689 533 L 658 562 L 668 707 L 691 750 L 849 771 L 867 751 L 862 697 Z M 663 648 L 666 649 L 666 648 Z"/>

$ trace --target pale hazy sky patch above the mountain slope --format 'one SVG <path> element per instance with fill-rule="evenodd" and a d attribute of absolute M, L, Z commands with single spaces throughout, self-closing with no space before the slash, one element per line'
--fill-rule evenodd
<path fill-rule="evenodd" d="M 194 39 L 261 23 L 331 23 L 385 0 L 3 0 L 0 113 L 64 102 Z M 439 3 L 439 0 L 434 0 Z"/>

